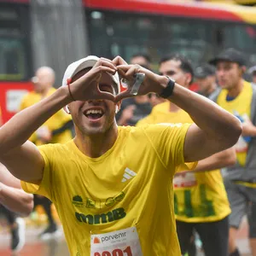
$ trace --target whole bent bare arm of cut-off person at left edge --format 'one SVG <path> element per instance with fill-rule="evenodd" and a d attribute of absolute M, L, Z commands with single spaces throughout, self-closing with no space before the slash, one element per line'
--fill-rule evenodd
<path fill-rule="evenodd" d="M 22 216 L 28 215 L 33 208 L 33 195 L 26 194 L 20 186 L 20 181 L 12 176 L 0 163 L 0 204 L 12 212 Z"/>

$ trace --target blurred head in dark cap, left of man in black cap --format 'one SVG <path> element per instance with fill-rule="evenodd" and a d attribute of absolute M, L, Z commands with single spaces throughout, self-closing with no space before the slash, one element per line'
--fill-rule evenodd
<path fill-rule="evenodd" d="M 202 96 L 209 97 L 217 88 L 216 69 L 210 64 L 205 64 L 195 68 L 195 79 Z"/>

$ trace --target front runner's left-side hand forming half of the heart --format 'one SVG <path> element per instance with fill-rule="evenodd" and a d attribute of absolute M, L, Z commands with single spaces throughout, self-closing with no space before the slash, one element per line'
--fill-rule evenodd
<path fill-rule="evenodd" d="M 115 102 L 115 96 L 110 92 L 100 90 L 99 83 L 102 73 L 113 75 L 116 72 L 117 67 L 113 61 L 101 58 L 90 71 L 69 85 L 71 97 L 75 101 L 109 100 Z"/>

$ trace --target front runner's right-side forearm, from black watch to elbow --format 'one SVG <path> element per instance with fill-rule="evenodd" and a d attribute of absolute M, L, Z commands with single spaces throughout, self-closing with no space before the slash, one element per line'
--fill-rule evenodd
<path fill-rule="evenodd" d="M 218 107 L 216 103 L 206 97 L 187 90 L 178 84 L 175 84 L 169 100 L 189 113 L 195 124 L 202 131 L 205 131 L 207 136 L 230 142 L 232 141 L 230 138 L 234 138 L 234 133 L 241 133 L 239 119 L 230 115 L 230 113 Z M 231 144 L 230 146 L 233 145 Z"/>

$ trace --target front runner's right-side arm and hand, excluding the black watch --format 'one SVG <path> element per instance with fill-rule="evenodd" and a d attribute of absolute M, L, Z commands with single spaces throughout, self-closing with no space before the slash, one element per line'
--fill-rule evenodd
<path fill-rule="evenodd" d="M 119 60 L 118 60 L 119 61 Z M 145 73 L 138 95 L 149 92 L 161 94 L 169 82 L 164 76 L 152 73 L 138 65 L 120 65 L 119 73 L 125 79 L 133 79 L 135 73 Z M 118 100 L 131 96 L 131 88 L 121 93 Z M 189 127 L 184 143 L 184 161 L 203 160 L 212 154 L 230 148 L 241 135 L 241 122 L 234 115 L 220 108 L 204 96 L 175 84 L 169 101 L 189 113 L 195 122 Z"/>

